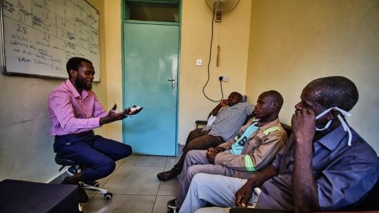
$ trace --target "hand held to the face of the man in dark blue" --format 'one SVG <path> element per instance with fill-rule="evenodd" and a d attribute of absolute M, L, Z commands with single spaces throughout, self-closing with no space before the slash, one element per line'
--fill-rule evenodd
<path fill-rule="evenodd" d="M 292 115 L 291 126 L 294 131 L 295 142 L 312 142 L 316 131 L 316 115 L 313 110 L 302 108 Z"/>

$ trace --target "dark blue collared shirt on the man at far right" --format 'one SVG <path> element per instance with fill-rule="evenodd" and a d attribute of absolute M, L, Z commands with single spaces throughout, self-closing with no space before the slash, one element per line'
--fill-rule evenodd
<path fill-rule="evenodd" d="M 349 135 L 340 125 L 313 145 L 313 175 L 321 211 L 351 207 L 376 183 L 379 162 L 376 152 L 353 129 Z M 294 209 L 291 177 L 294 170 L 294 136 L 272 163 L 278 176 L 260 187 L 257 208 Z"/>

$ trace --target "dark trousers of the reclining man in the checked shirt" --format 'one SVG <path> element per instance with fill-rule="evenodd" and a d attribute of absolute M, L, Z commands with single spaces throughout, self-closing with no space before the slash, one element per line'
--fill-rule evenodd
<path fill-rule="evenodd" d="M 185 156 L 190 150 L 207 150 L 208 148 L 216 147 L 225 142 L 221 136 L 214 136 L 208 133 L 209 130 L 203 131 L 202 128 L 189 132 L 187 141 L 185 141 L 181 159 L 179 159 L 178 163 L 176 163 L 174 168 L 172 168 L 176 174 L 181 174 Z"/>

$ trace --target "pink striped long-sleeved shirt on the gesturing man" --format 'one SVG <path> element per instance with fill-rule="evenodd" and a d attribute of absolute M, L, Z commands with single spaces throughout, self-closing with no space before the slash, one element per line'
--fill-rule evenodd
<path fill-rule="evenodd" d="M 48 110 L 52 136 L 98 128 L 100 118 L 107 115 L 92 90 L 82 90 L 79 94 L 69 79 L 52 90 Z"/>

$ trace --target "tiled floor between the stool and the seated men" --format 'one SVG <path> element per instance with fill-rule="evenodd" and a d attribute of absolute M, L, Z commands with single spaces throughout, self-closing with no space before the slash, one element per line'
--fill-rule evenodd
<path fill-rule="evenodd" d="M 110 201 L 102 194 L 87 191 L 90 201 L 83 212 L 167 212 L 167 201 L 175 199 L 178 182 L 159 181 L 158 172 L 170 170 L 178 157 L 132 155 L 116 162 L 116 170 L 99 180 L 101 187 L 113 193 Z"/>

